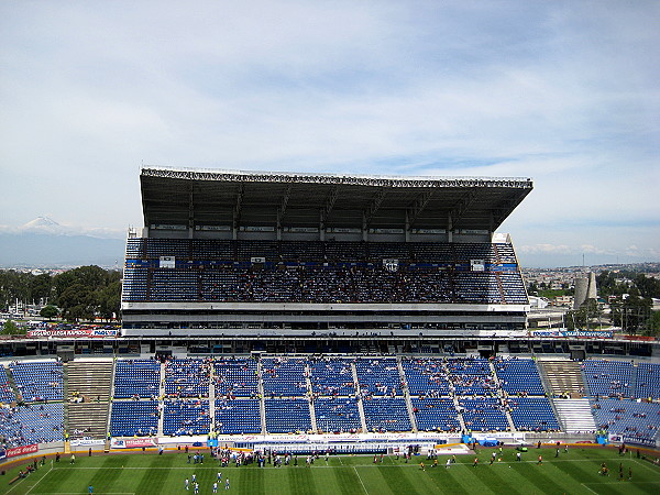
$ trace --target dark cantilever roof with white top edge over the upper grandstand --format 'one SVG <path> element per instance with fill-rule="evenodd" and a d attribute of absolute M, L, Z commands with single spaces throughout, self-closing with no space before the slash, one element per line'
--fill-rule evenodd
<path fill-rule="evenodd" d="M 529 178 L 329 175 L 145 167 L 145 226 L 495 230 Z"/>

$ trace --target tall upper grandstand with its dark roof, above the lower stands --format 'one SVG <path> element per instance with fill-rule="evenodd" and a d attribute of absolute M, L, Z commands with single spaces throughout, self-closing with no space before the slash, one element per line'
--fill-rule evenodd
<path fill-rule="evenodd" d="M 525 331 L 516 254 L 495 230 L 532 189 L 528 178 L 144 168 L 141 186 L 127 337 L 396 344 Z"/>

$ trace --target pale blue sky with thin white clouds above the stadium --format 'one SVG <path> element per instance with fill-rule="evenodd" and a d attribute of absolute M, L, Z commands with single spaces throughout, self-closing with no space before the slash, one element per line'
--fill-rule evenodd
<path fill-rule="evenodd" d="M 660 2 L 0 2 L 0 230 L 141 166 L 531 177 L 526 266 L 660 261 Z"/>

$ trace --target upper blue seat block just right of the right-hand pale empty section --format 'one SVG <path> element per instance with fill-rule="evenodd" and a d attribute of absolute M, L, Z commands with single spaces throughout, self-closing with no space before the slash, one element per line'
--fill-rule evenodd
<path fill-rule="evenodd" d="M 628 361 L 586 360 L 582 363 L 591 395 L 631 397 L 635 369 Z"/>

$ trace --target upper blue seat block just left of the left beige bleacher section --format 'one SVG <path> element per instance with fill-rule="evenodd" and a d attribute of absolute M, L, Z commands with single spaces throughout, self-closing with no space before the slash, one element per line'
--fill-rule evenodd
<path fill-rule="evenodd" d="M 63 400 L 64 382 L 61 362 L 12 363 L 10 369 L 24 402 Z"/>

